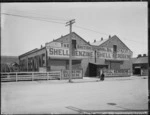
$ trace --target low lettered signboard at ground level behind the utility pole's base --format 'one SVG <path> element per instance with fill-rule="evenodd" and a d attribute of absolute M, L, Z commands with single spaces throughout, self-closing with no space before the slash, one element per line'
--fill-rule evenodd
<path fill-rule="evenodd" d="M 82 79 L 83 74 L 82 70 L 72 70 L 72 78 L 73 79 Z M 62 79 L 69 79 L 69 70 L 62 70 Z"/>

